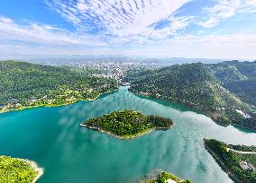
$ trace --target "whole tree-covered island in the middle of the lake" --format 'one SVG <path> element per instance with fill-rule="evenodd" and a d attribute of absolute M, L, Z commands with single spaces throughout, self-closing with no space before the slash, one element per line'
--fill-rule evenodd
<path fill-rule="evenodd" d="M 102 117 L 91 118 L 81 126 L 96 129 L 117 138 L 135 138 L 151 132 L 152 129 L 169 129 L 173 125 L 170 118 L 145 116 L 141 112 L 124 109 Z"/>

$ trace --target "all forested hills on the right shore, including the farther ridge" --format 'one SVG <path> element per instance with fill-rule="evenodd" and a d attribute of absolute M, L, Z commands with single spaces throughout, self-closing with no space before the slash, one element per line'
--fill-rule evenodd
<path fill-rule="evenodd" d="M 235 63 L 240 65 L 241 72 Z M 256 131 L 256 109 L 252 106 L 256 62 L 249 64 L 242 67 L 235 61 L 231 65 L 197 63 L 130 70 L 123 82 L 130 83 L 131 92 L 181 103 L 224 126 L 233 124 Z M 236 88 L 238 84 L 241 86 Z M 251 90 L 247 91 L 245 86 Z"/>

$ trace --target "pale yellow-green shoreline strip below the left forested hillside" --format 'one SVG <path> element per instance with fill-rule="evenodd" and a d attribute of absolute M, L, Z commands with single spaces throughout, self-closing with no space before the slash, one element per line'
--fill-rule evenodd
<path fill-rule="evenodd" d="M 113 91 L 109 91 L 109 92 L 116 92 L 118 91 L 118 89 L 116 90 L 113 90 Z M 4 113 L 7 113 L 7 112 L 13 112 L 13 111 L 19 111 L 19 110 L 24 110 L 24 109 L 34 109 L 34 108 L 40 108 L 40 107 L 44 107 L 44 108 L 54 108 L 54 107 L 60 107 L 60 106 L 68 106 L 70 104 L 75 104 L 79 101 L 95 101 L 95 100 L 98 100 L 100 98 L 101 95 L 103 94 L 107 94 L 109 92 L 103 92 L 103 93 L 100 93 L 96 96 L 95 99 L 78 99 L 78 100 L 73 100 L 73 101 L 69 101 L 69 102 L 66 102 L 66 103 L 61 103 L 61 104 L 41 104 L 41 105 L 36 105 L 36 106 L 23 106 L 22 108 L 20 109 L 6 109 L 4 111 L 0 110 L 0 114 L 4 114 Z"/>

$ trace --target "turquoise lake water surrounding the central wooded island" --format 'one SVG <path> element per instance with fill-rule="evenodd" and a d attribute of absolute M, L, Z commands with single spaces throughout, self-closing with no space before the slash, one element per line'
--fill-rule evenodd
<path fill-rule="evenodd" d="M 87 118 L 120 109 L 169 117 L 175 126 L 133 140 L 79 126 Z M 40 183 L 135 182 L 157 169 L 198 183 L 233 182 L 206 152 L 203 137 L 256 145 L 255 133 L 218 126 L 190 109 L 139 97 L 127 87 L 95 101 L 0 115 L 0 154 L 37 161 L 44 169 Z"/>

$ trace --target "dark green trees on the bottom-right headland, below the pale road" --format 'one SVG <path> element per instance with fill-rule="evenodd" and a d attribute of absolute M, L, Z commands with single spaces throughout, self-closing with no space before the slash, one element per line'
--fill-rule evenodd
<path fill-rule="evenodd" d="M 255 154 L 242 154 L 228 151 L 228 148 L 231 148 L 230 145 L 214 139 L 204 139 L 204 143 L 207 151 L 213 155 L 215 160 L 224 168 L 230 177 L 238 182 L 256 182 L 256 171 L 242 168 L 242 162 L 244 161 L 250 163 L 255 168 Z"/>

